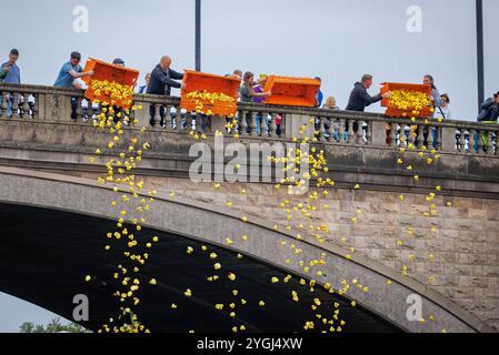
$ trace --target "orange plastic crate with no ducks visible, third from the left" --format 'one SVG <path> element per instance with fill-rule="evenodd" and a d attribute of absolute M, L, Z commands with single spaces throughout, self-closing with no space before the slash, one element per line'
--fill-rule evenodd
<path fill-rule="evenodd" d="M 315 108 L 319 89 L 320 81 L 316 79 L 271 75 L 263 91 L 272 93 L 266 100 L 268 104 Z"/>

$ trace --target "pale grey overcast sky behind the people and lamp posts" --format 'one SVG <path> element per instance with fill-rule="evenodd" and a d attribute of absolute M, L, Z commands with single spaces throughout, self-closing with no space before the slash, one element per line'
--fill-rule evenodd
<path fill-rule="evenodd" d="M 383 81 L 419 83 L 431 73 L 440 92 L 449 93 L 455 119 L 477 116 L 473 0 L 202 2 L 206 72 L 321 77 L 325 95 L 335 95 L 342 109 L 363 73 L 375 75 L 373 94 Z M 499 1 L 483 3 L 490 97 L 499 90 Z M 89 11 L 88 32 L 74 31 L 78 6 Z M 410 7 L 422 11 L 421 32 L 407 29 Z M 162 54 L 173 58 L 176 70 L 194 68 L 194 0 L 2 1 L 1 13 L 8 16 L 2 16 L 0 31 L 9 36 L 2 36 L 0 54 L 7 60 L 11 48 L 20 50 L 26 83 L 53 84 L 73 50 L 83 59 L 120 57 L 140 70 L 141 81 Z M 381 112 L 379 105 L 370 110 Z M 17 311 L 0 296 L 0 332 L 24 321 Z"/>

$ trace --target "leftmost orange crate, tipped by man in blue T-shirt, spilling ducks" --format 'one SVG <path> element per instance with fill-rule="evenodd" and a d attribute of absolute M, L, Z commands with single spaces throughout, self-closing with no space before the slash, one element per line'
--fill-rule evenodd
<path fill-rule="evenodd" d="M 106 94 L 97 95 L 93 92 L 91 88 L 92 80 L 107 80 L 109 82 L 116 82 L 122 85 L 134 87 L 140 74 L 138 70 L 118 67 L 92 58 L 89 58 L 87 64 L 84 65 L 84 71 L 89 70 L 93 70 L 93 75 L 82 78 L 82 80 L 88 85 L 84 97 L 89 100 L 99 100 L 100 102 L 109 103 L 111 103 L 111 98 L 107 97 Z M 130 109 L 132 105 L 131 102 L 127 102 L 126 100 L 120 100 L 113 102 L 112 104 L 123 109 Z"/>

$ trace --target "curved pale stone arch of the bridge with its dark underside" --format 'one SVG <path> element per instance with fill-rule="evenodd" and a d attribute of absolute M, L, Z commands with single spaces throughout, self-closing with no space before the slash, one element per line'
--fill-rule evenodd
<path fill-rule="evenodd" d="M 54 216 L 53 211 L 60 211 L 60 214 L 64 217 L 80 216 L 84 223 L 92 223 L 91 225 L 98 225 L 100 223 L 106 227 L 106 221 L 108 225 L 112 225 L 111 221 L 117 219 L 118 212 L 110 204 L 113 197 L 114 195 L 111 189 L 101 186 L 94 181 L 21 169 L 0 168 L 0 205 L 3 205 L 3 211 L 11 211 L 14 214 L 16 211 L 28 211 L 23 209 L 38 209 L 38 211 L 44 211 L 46 213 L 50 211 L 50 215 Z M 285 275 L 289 273 L 298 277 L 310 277 L 310 274 L 305 274 L 302 268 L 299 267 L 299 258 L 297 258 L 293 251 L 288 247 L 282 247 L 281 242 L 283 241 L 293 243 L 298 248 L 301 248 L 307 260 L 320 258 L 321 254 L 326 253 L 328 265 L 322 268 L 323 275 L 315 278 L 318 278 L 321 285 L 326 283 L 331 284 L 335 290 L 341 288 L 340 284 L 342 280 L 357 278 L 363 285 L 368 285 L 368 293 L 352 287 L 348 293 L 348 300 L 356 301 L 359 310 L 361 310 L 359 314 L 375 316 L 376 320 L 370 324 L 372 326 L 379 326 L 380 329 L 402 329 L 415 333 L 440 332 L 442 328 L 447 332 L 491 332 L 491 328 L 486 323 L 466 312 L 453 302 L 445 298 L 429 287 L 411 278 L 402 277 L 398 273 L 376 262 L 358 255 L 351 255 L 351 260 L 346 260 L 345 255 L 348 252 L 340 247 L 321 245 L 308 235 L 302 235 L 303 239 L 297 241 L 296 235 L 298 232 L 296 231 L 276 232 L 273 231 L 272 223 L 252 216 L 248 216 L 248 221 L 243 222 L 241 216 L 241 214 L 229 209 L 191 202 L 176 196 L 171 197 L 166 194 L 157 196 L 157 202 L 148 215 L 149 221 L 147 227 L 159 233 L 164 233 L 171 240 L 178 241 L 178 247 L 179 250 L 183 250 L 183 252 L 187 245 L 186 243 L 197 243 L 198 245 L 212 245 L 220 253 L 228 253 L 228 255 L 241 253 L 251 261 L 248 265 L 249 268 L 251 266 L 261 266 L 255 274 L 260 273 L 261 275 L 259 277 L 267 278 L 267 282 L 269 281 L 268 275 L 272 272 L 280 272 Z M 26 226 L 29 226 L 28 222 Z M 99 233 L 98 230 L 96 230 L 94 234 L 99 234 L 97 235 L 98 239 L 104 239 L 104 234 Z M 240 239 L 241 235 L 249 235 L 250 240 L 244 242 Z M 227 237 L 232 239 L 232 245 L 226 245 Z M 305 256 L 301 256 L 301 258 Z M 287 258 L 291 260 L 290 264 L 286 263 Z M 209 264 L 209 262 L 207 263 Z M 231 266 L 237 267 L 236 264 L 233 263 Z M 91 266 L 87 265 L 87 267 Z M 6 272 L 16 273 L 16 271 Z M 243 271 L 241 270 L 241 272 Z M 159 281 L 160 288 L 168 288 L 172 294 L 180 293 L 179 297 L 181 297 L 181 290 L 171 290 L 171 285 L 161 283 L 161 275 L 154 276 Z M 192 275 L 186 275 L 186 280 L 191 277 Z M 248 277 L 249 288 L 255 288 L 259 285 L 259 292 L 262 297 L 263 295 L 269 296 L 266 292 L 272 290 L 273 285 L 270 283 L 259 284 L 255 277 L 252 280 Z M 391 281 L 391 285 L 387 285 L 388 280 Z M 78 282 L 81 283 L 81 278 Z M 2 287 L 1 284 L 0 287 Z M 280 286 L 278 285 L 276 287 Z M 290 291 L 285 285 L 281 287 L 280 291 L 288 292 L 286 298 L 290 298 Z M 29 290 L 24 290 L 24 292 L 28 293 Z M 99 293 L 102 291 L 93 290 L 93 292 Z M 272 294 L 276 295 L 277 293 L 273 292 Z M 435 321 L 427 320 L 427 322 L 421 324 L 407 318 L 406 313 L 409 307 L 407 300 L 412 294 L 421 296 L 423 316 L 427 317 L 431 314 Z M 323 297 L 327 296 L 328 294 L 325 293 Z M 36 298 L 33 296 L 30 301 L 37 302 Z M 206 300 L 202 297 L 193 301 L 199 307 L 208 307 Z M 275 301 L 276 303 L 282 302 L 279 298 L 275 298 Z M 335 302 L 332 298 L 329 298 L 329 301 Z M 111 306 L 111 303 L 103 302 L 100 306 L 106 308 Z M 167 306 L 166 304 L 164 307 Z M 269 307 L 269 310 L 267 312 L 268 317 L 280 314 L 279 307 L 276 310 Z M 280 311 L 282 310 L 280 308 Z M 64 314 L 68 314 L 68 312 L 70 312 L 70 306 L 60 311 L 60 313 Z M 356 315 L 353 314 L 352 316 L 355 317 Z M 196 316 L 191 314 L 191 318 L 196 318 Z M 287 320 L 287 316 L 280 314 L 278 318 L 282 324 Z M 213 315 L 211 320 L 217 320 L 217 316 Z M 362 320 L 366 321 L 367 318 L 363 317 Z M 242 317 L 240 321 L 242 323 L 247 322 Z M 253 323 L 248 321 L 248 325 L 253 331 L 267 331 L 268 328 L 265 326 L 265 324 L 268 324 L 267 321 L 268 318 L 265 317 Z M 184 326 L 187 327 L 187 324 Z M 192 327 L 194 326 L 196 324 L 192 324 Z M 275 324 L 275 326 L 277 327 L 278 325 Z M 97 324 L 92 325 L 92 327 L 96 328 Z M 227 328 L 227 331 L 229 329 Z M 277 328 L 270 327 L 270 329 Z M 184 328 L 183 331 L 187 332 L 188 329 Z M 296 331 L 299 331 L 299 328 Z"/>

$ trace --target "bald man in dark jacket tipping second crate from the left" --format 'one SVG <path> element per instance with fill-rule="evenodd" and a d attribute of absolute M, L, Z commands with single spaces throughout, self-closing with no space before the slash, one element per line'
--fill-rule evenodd
<path fill-rule="evenodd" d="M 147 93 L 157 94 L 157 95 L 170 95 L 171 88 L 184 89 L 183 83 L 179 83 L 174 80 L 182 80 L 183 74 L 178 73 L 170 69 L 171 58 L 164 55 L 161 58 L 161 61 L 151 72 L 151 79 L 149 81 Z M 156 120 L 156 105 L 151 104 L 150 108 L 151 121 L 149 122 L 151 126 L 154 126 Z M 166 126 L 164 118 L 167 116 L 167 109 L 161 105 L 159 109 L 159 115 L 161 118 L 160 125 L 162 128 Z"/>

